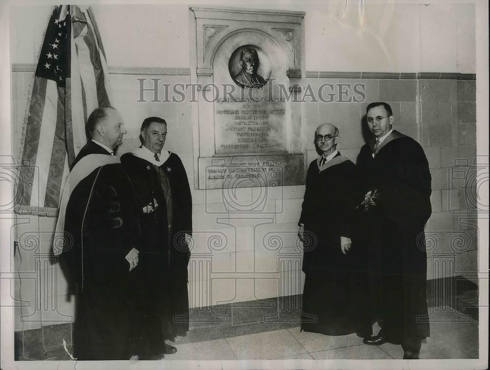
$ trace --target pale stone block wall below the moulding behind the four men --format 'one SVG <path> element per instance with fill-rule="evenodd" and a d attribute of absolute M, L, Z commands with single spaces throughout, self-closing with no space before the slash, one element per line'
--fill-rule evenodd
<path fill-rule="evenodd" d="M 12 73 L 14 153 L 21 143 L 33 71 L 34 66 L 15 65 Z M 427 278 L 474 277 L 474 75 L 425 77 L 416 73 L 307 72 L 305 82 L 314 92 L 323 86 L 328 100 L 308 97 L 302 103 L 307 162 L 317 157 L 313 135 L 324 122 L 339 127 L 339 149 L 356 162 L 369 137 L 366 106 L 372 101 L 389 102 L 394 128 L 422 144 L 431 167 L 434 190 L 433 215 L 426 226 Z M 189 101 L 137 102 L 138 78 L 185 84 L 190 82 L 190 73 L 188 69 L 111 69 L 110 82 L 112 104 L 122 113 L 128 131 L 120 153 L 139 145 L 143 118 L 162 116 L 168 122 L 166 147 L 180 156 L 186 168 L 193 196 L 191 307 L 300 294 L 302 253 L 296 232 L 304 185 L 195 190 Z M 354 92 L 356 85 L 364 95 Z M 14 282 L 15 298 L 24 302 L 22 309 L 15 310 L 16 330 L 72 321 L 76 297 L 70 294 L 62 258 L 50 254 L 54 224 L 54 218 L 19 215 L 11 231 L 12 240 L 19 242 L 14 261 L 14 271 L 20 276 Z"/>

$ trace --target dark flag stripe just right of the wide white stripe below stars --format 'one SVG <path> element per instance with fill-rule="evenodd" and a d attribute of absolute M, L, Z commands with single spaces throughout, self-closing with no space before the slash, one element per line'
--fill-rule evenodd
<path fill-rule="evenodd" d="M 49 166 L 48 185 L 44 207 L 57 208 L 59 194 L 61 192 L 61 180 L 66 157 L 65 138 L 65 89 L 58 88 L 58 114 L 56 129 L 54 132 L 53 148 L 51 151 L 51 163 Z"/>

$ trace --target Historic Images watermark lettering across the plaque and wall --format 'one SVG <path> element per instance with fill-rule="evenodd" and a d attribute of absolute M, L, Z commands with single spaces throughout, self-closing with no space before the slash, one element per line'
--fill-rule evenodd
<path fill-rule="evenodd" d="M 293 103 L 362 103 L 366 101 L 366 85 L 363 83 L 324 83 L 315 87 L 306 84 L 300 93 L 295 87 L 281 82 L 268 83 L 260 88 L 241 88 L 235 84 L 168 84 L 160 78 L 137 78 L 136 102 L 196 103 L 200 95 L 207 103 L 212 102 L 293 102 Z M 274 96 L 274 97 L 273 97 Z"/>

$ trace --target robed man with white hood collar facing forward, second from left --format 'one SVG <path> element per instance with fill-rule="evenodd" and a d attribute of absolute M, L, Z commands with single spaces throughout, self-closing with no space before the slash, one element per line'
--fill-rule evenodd
<path fill-rule="evenodd" d="M 147 307 L 148 357 L 171 354 L 165 345 L 189 330 L 187 265 L 192 235 L 192 198 L 179 157 L 163 149 L 167 122 L 160 117 L 143 121 L 142 146 L 123 155 L 121 162 L 138 192 L 144 235 L 140 260 Z M 158 328 L 152 323 L 162 323 Z M 163 336 L 162 336 L 163 335 Z"/>

